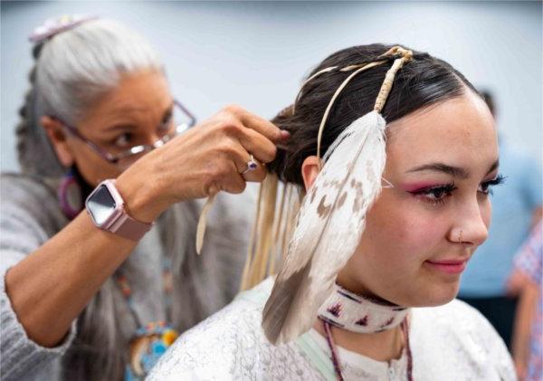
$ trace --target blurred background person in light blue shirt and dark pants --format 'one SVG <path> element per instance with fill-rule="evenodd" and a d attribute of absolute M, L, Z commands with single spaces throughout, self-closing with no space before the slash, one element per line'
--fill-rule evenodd
<path fill-rule="evenodd" d="M 496 119 L 495 101 L 481 91 Z M 493 190 L 492 222 L 488 240 L 462 274 L 459 298 L 491 321 L 511 348 L 511 332 L 519 290 L 508 287 L 513 257 L 541 218 L 542 179 L 538 163 L 515 151 L 499 137 L 500 170 L 505 186 Z"/>

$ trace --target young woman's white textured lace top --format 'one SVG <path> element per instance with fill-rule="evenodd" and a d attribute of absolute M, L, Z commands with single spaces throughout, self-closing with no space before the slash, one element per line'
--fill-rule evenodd
<path fill-rule="evenodd" d="M 261 329 L 271 278 L 188 330 L 149 380 L 336 380 L 328 344 L 315 330 L 272 346 Z M 412 309 L 415 381 L 515 380 L 510 355 L 491 324 L 460 300 Z M 389 363 L 338 348 L 346 380 L 406 380 L 405 354 Z"/>

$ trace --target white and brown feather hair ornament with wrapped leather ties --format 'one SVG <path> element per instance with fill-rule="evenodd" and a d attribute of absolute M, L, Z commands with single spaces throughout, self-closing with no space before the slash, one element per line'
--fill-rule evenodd
<path fill-rule="evenodd" d="M 381 191 L 386 121 L 380 112 L 396 72 L 413 53 L 395 46 L 381 57 L 391 56 L 398 58 L 386 72 L 374 110 L 353 121 L 329 147 L 319 176 L 302 201 L 285 262 L 262 312 L 262 329 L 272 344 L 289 342 L 310 329 L 320 305 L 333 291 L 338 271 L 357 249 L 367 210 Z M 343 69 L 355 71 L 338 87 L 323 115 L 318 157 L 322 131 L 339 93 L 357 74 L 384 62 Z M 319 71 L 323 72 L 328 71 Z"/>

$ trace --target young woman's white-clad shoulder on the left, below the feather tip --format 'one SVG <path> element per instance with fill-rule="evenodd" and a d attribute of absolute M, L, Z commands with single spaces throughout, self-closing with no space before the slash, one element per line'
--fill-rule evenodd
<path fill-rule="evenodd" d="M 232 303 L 189 329 L 168 349 L 150 380 L 235 379 L 243 376 L 243 364 L 255 361 L 267 342 L 262 334 L 262 295 L 271 290 L 271 280 L 240 294 Z M 264 297 L 266 300 L 267 297 Z M 247 371 L 251 371 L 250 367 Z"/>

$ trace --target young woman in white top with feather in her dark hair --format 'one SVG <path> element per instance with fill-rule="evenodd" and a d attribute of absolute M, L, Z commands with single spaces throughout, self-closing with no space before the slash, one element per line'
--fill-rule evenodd
<path fill-rule="evenodd" d="M 282 269 L 178 338 L 151 380 L 515 378 L 491 325 L 454 300 L 501 181 L 491 113 L 448 63 L 391 48 L 330 55 L 274 120 L 291 139 L 268 168 L 307 191 Z"/>

